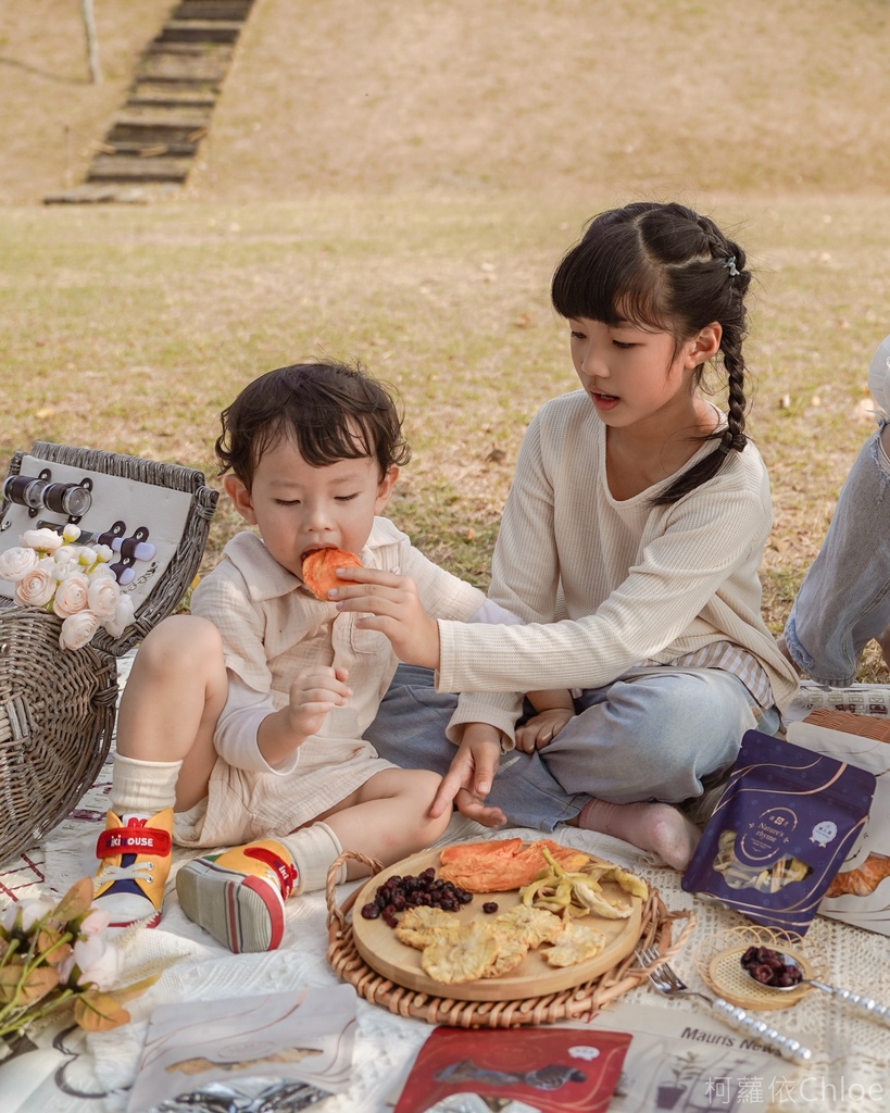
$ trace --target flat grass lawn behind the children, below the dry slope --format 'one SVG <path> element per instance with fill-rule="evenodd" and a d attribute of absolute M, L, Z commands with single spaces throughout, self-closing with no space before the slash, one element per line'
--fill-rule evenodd
<path fill-rule="evenodd" d="M 525 426 L 575 386 L 550 275 L 604 204 L 425 194 L 0 208 L 3 463 L 49 440 L 212 476 L 218 413 L 245 382 L 319 354 L 358 359 L 405 403 L 414 459 L 392 516 L 484 587 Z M 890 200 L 700 207 L 759 276 L 750 430 L 773 481 L 763 579 L 778 630 L 872 427 Z M 237 526 L 224 500 L 208 563 Z"/>

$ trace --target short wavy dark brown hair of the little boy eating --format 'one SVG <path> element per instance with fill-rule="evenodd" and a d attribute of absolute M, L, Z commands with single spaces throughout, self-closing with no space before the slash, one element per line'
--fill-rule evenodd
<path fill-rule="evenodd" d="M 296 363 L 249 383 L 222 411 L 216 441 L 219 474 L 231 471 L 249 490 L 257 463 L 280 437 L 289 437 L 314 467 L 370 456 L 380 479 L 406 464 L 395 391 L 334 361 Z"/>

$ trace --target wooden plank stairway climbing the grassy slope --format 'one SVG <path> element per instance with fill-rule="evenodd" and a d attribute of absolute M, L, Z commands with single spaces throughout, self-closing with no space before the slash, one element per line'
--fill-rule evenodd
<path fill-rule="evenodd" d="M 180 0 L 142 55 L 86 180 L 44 204 L 146 201 L 179 189 L 210 127 L 254 0 Z"/>

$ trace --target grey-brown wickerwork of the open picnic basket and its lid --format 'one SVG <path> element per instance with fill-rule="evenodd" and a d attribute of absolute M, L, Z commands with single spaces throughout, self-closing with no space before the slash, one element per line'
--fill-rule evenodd
<path fill-rule="evenodd" d="M 137 503 L 139 484 L 184 492 L 190 503 L 175 559 L 120 638 L 99 630 L 88 646 L 63 650 L 61 619 L 0 595 L 0 865 L 41 839 L 95 781 L 113 735 L 116 659 L 169 614 L 191 584 L 218 498 L 201 472 L 178 464 L 47 442 L 34 444 L 29 456 L 126 480 Z M 9 475 L 20 474 L 23 459 L 13 455 Z M 8 501 L 0 505 L 4 530 L 11 509 Z"/>

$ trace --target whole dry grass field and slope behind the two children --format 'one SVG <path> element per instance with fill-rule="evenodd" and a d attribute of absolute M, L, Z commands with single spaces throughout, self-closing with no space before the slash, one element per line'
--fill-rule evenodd
<path fill-rule="evenodd" d="M 33 440 L 212 473 L 249 377 L 319 352 L 398 385 L 393 516 L 486 581 L 515 453 L 573 388 L 553 265 L 593 213 L 679 198 L 759 283 L 751 430 L 779 630 L 871 427 L 890 331 L 883 0 L 257 0 L 180 194 L 46 207 L 82 180 L 172 0 L 0 6 L 0 467 Z M 221 508 L 208 563 L 236 523 Z M 863 677 L 886 677 L 876 653 Z"/>

